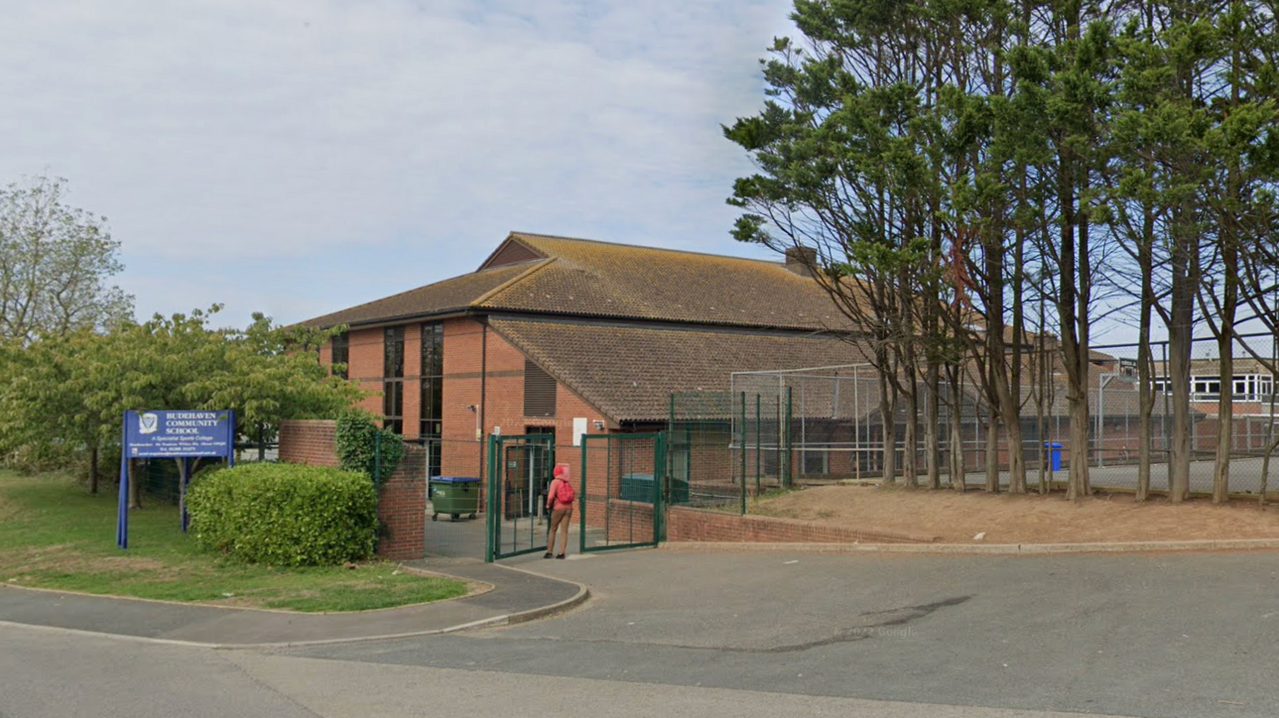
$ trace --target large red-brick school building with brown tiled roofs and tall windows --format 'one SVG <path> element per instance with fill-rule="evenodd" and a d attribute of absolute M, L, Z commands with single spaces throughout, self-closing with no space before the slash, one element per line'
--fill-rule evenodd
<path fill-rule="evenodd" d="M 482 477 L 489 433 L 660 428 L 671 392 L 734 370 L 862 360 L 848 321 L 787 263 L 512 233 L 475 271 L 308 326 L 345 325 L 321 360 L 420 439 L 431 475 Z M 573 451 L 559 460 L 574 464 Z"/>

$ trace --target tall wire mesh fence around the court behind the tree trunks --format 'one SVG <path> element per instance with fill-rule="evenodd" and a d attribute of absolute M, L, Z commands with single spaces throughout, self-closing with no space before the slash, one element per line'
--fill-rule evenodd
<path fill-rule="evenodd" d="M 1229 448 L 1232 493 L 1270 487 L 1266 474 L 1271 461 L 1266 455 L 1279 441 L 1279 387 L 1273 372 L 1279 367 L 1279 351 L 1274 339 L 1241 337 L 1227 379 L 1221 378 L 1215 340 L 1193 341 L 1191 354 L 1191 491 L 1211 491 L 1219 446 Z M 1044 364 L 1049 370 L 1042 370 Z M 961 474 L 968 484 L 984 484 L 995 477 L 1007 485 L 1010 459 L 1019 451 L 1032 488 L 1063 482 L 1073 462 L 1087 461 L 1095 488 L 1131 491 L 1137 485 L 1145 443 L 1151 488 L 1161 491 L 1168 488 L 1174 432 L 1170 365 L 1168 345 L 1154 344 L 1149 408 L 1143 411 L 1137 346 L 1094 348 L 1085 446 L 1073 445 L 1067 383 L 1056 362 L 1028 360 L 1023 381 L 1010 387 L 1012 401 L 1021 409 L 1017 431 L 995 419 L 985 387 L 966 372 L 959 373 L 957 385 L 941 381 L 932 388 L 916 381 L 913 416 L 908 416 L 908 402 L 898 392 L 891 432 L 885 431 L 883 387 L 872 367 L 735 373 L 729 392 L 671 396 L 671 475 L 688 477 L 693 503 L 744 512 L 749 496 L 773 488 L 883 480 L 885 437 L 890 434 L 897 477 L 902 477 L 913 451 L 920 483 L 936 475 L 943 485 L 953 484 L 953 475 Z M 1224 406 L 1223 382 L 1229 382 L 1233 395 Z M 911 391 L 909 385 L 904 388 Z M 936 416 L 932 442 L 927 441 L 930 416 Z M 908 450 L 912 419 L 914 442 Z M 994 439 L 993 420 L 999 427 Z M 1014 450 L 1017 433 L 1021 436 Z M 994 461 L 989 474 L 987 461 Z M 930 466 L 935 469 L 930 471 Z"/>

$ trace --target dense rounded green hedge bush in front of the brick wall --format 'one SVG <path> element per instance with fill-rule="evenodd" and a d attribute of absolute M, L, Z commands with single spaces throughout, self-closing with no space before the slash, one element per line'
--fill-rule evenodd
<path fill-rule="evenodd" d="M 333 566 L 368 558 L 377 492 L 354 471 L 242 464 L 192 483 L 191 533 L 207 549 L 251 563 Z"/>

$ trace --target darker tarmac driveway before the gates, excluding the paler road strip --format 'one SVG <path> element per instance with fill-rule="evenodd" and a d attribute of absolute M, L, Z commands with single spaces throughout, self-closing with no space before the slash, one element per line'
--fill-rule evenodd
<path fill-rule="evenodd" d="M 1274 552 L 657 549 L 538 570 L 588 585 L 591 602 L 505 629 L 288 653 L 1009 710 L 1279 715 Z"/>

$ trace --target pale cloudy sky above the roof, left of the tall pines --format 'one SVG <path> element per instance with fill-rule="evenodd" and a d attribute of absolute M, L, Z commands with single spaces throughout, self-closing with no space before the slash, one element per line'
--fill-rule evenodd
<path fill-rule="evenodd" d="M 5 0 L 0 184 L 107 217 L 139 318 L 290 323 L 475 271 L 512 230 L 729 236 L 789 0 Z"/>

